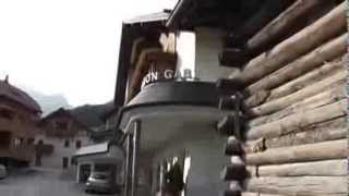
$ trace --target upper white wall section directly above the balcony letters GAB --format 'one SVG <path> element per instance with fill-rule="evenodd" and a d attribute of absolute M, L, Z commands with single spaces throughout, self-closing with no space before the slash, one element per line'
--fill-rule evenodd
<path fill-rule="evenodd" d="M 222 51 L 224 33 L 216 28 L 196 27 L 194 32 L 177 32 L 177 70 L 191 70 L 192 76 L 203 82 L 227 78 L 238 69 L 221 66 L 219 53 Z"/>

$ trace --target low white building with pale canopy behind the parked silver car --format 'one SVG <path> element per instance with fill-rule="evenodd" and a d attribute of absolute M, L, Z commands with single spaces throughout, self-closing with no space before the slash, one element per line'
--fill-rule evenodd
<path fill-rule="evenodd" d="M 92 144 L 74 152 L 76 169 L 76 183 L 86 183 L 88 176 L 95 172 L 109 173 L 112 183 L 122 187 L 124 182 L 124 150 L 118 140 L 121 132 L 116 132 L 115 111 L 107 112 L 101 119 L 105 124 L 91 132 Z"/>

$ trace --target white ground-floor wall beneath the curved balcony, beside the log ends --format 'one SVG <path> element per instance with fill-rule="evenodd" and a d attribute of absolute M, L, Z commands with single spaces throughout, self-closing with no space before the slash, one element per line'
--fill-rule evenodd
<path fill-rule="evenodd" d="M 153 159 L 153 171 L 157 164 L 176 154 L 185 150 L 191 157 L 191 168 L 188 175 L 186 196 L 221 195 L 225 183 L 220 180 L 220 172 L 229 160 L 224 155 L 225 138 L 214 128 L 190 130 L 173 138 Z"/>

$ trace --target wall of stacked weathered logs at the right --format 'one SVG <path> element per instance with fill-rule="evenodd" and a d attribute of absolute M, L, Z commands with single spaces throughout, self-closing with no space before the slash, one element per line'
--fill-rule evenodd
<path fill-rule="evenodd" d="M 296 1 L 230 76 L 245 84 L 244 196 L 348 195 L 347 7 L 332 2 Z"/>

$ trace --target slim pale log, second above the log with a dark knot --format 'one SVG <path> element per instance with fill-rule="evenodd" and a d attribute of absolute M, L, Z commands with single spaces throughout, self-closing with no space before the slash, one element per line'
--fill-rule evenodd
<path fill-rule="evenodd" d="M 334 88 L 327 89 L 326 91 L 323 91 L 321 94 L 306 98 L 300 102 L 291 105 L 285 108 L 284 110 L 272 113 L 269 115 L 263 115 L 263 117 L 253 119 L 250 122 L 248 122 L 246 127 L 257 126 L 261 124 L 280 120 L 287 115 L 290 115 L 297 112 L 304 112 L 306 110 L 318 108 L 325 105 L 330 105 L 333 102 L 336 102 L 340 99 L 346 98 L 346 96 L 347 95 L 346 95 L 345 84 L 340 84 L 338 86 L 335 86 Z"/>

